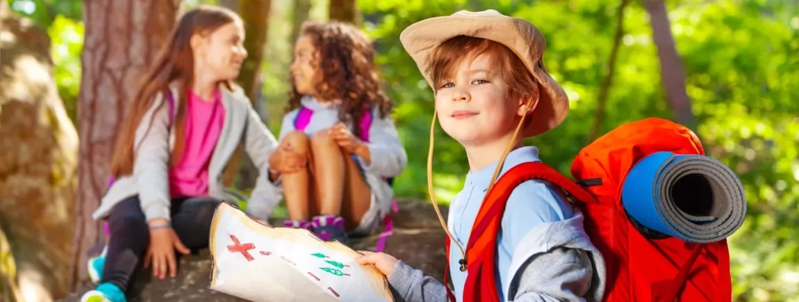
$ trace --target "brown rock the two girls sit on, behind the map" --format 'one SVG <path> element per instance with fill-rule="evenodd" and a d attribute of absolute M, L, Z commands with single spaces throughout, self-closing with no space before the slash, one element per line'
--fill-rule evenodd
<path fill-rule="evenodd" d="M 421 201 L 400 200 L 400 213 L 392 213 L 394 235 L 388 237 L 386 251 L 415 268 L 422 269 L 428 276 L 439 281 L 443 278 L 446 264 L 444 255 L 444 238 L 446 232 L 428 203 Z M 446 217 L 447 208 L 441 207 Z M 282 225 L 282 221 L 272 221 L 273 225 Z M 383 232 L 380 229 L 379 232 Z M 374 251 L 380 233 L 358 240 L 353 240 L 352 248 L 356 250 Z M 173 302 L 227 302 L 244 301 L 221 292 L 210 290 L 211 259 L 207 249 L 197 254 L 183 256 L 180 260 L 178 275 L 165 280 L 153 279 L 150 271 L 142 271 L 137 283 L 130 292 L 129 301 L 164 301 Z M 64 298 L 63 302 L 78 302 L 84 292 L 91 288 L 82 288 Z"/>

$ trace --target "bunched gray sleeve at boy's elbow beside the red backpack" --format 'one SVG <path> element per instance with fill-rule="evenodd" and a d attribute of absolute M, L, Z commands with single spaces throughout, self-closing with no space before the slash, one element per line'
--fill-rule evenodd
<path fill-rule="evenodd" d="M 512 301 L 586 301 L 594 269 L 588 252 L 554 248 L 532 256 L 514 277 Z M 521 275 L 521 276 L 519 276 Z"/>

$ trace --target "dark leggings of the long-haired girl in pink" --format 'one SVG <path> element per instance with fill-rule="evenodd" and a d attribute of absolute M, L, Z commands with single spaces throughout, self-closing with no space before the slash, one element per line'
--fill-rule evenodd
<path fill-rule="evenodd" d="M 208 247 L 211 220 L 220 202 L 211 197 L 172 200 L 172 227 L 187 248 Z M 149 244 L 149 228 L 139 198 L 128 197 L 114 205 L 108 223 L 111 234 L 101 283 L 127 291 L 142 266 Z"/>

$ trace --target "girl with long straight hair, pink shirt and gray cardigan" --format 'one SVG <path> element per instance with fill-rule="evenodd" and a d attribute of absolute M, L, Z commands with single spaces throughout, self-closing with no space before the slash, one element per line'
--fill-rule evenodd
<path fill-rule="evenodd" d="M 176 251 L 207 247 L 214 209 L 231 199 L 221 174 L 240 143 L 264 172 L 248 214 L 265 221 L 279 201 L 276 175 L 264 175 L 277 142 L 232 83 L 247 57 L 243 41 L 231 10 L 198 6 L 178 21 L 118 135 L 115 181 L 93 213 L 109 223 L 105 265 L 100 284 L 81 300 L 125 301 L 142 264 L 164 279 L 176 275 Z"/>

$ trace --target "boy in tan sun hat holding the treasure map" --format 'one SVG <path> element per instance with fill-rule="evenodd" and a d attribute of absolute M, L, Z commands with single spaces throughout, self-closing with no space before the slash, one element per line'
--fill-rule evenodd
<path fill-rule="evenodd" d="M 582 214 L 555 186 L 522 182 L 507 197 L 496 236 L 483 230 L 481 207 L 493 205 L 484 200 L 491 185 L 515 165 L 540 161 L 538 149 L 523 146 L 523 138 L 554 128 L 568 112 L 566 93 L 541 62 L 543 34 L 495 10 L 460 11 L 408 26 L 400 40 L 435 92 L 434 123 L 439 116 L 469 161 L 445 228 L 448 266 L 459 268 L 447 271 L 452 298 L 601 300 L 602 255 L 582 228 Z M 384 253 L 364 254 L 358 261 L 388 276 L 398 300 L 447 300 L 447 288 L 419 270 Z"/>

